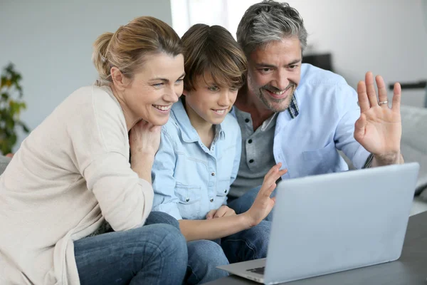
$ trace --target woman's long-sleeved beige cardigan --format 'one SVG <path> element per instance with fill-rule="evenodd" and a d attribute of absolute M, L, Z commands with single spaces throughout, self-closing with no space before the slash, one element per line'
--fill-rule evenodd
<path fill-rule="evenodd" d="M 80 284 L 73 240 L 144 224 L 152 186 L 132 171 L 109 87 L 84 87 L 23 141 L 0 177 L 0 284 Z M 101 213 L 102 211 L 102 213 Z"/>

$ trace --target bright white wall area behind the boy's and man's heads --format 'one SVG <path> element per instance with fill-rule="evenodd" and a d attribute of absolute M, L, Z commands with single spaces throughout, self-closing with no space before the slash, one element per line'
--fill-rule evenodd
<path fill-rule="evenodd" d="M 191 24 L 203 21 L 223 25 L 235 35 L 244 11 L 259 1 L 172 0 L 174 27 L 182 34 Z M 174 3 L 181 11 L 174 9 Z M 201 8 L 185 9 L 185 3 Z M 305 21 L 308 52 L 332 53 L 335 71 L 350 86 L 356 88 L 366 71 L 381 74 L 386 84 L 427 79 L 427 0 L 288 0 L 288 3 Z M 219 7 L 225 7 L 223 14 L 211 13 Z M 189 20 L 179 21 L 185 11 Z M 179 24 L 175 25 L 175 21 Z M 422 106 L 424 94 L 423 90 L 405 91 L 402 103 Z"/>

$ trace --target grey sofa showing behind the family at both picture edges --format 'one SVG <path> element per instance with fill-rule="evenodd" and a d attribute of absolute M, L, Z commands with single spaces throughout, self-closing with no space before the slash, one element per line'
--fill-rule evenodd
<path fill-rule="evenodd" d="M 427 108 L 401 106 L 401 151 L 405 162 L 418 162 L 420 173 L 412 214 L 427 211 Z M 0 155 L 0 174 L 11 159 Z"/>

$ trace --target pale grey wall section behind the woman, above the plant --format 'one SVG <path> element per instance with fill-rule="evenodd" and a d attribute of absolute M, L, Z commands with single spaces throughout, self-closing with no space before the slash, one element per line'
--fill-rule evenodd
<path fill-rule="evenodd" d="M 137 16 L 172 25 L 170 1 L 153 2 L 1 0 L 0 67 L 11 61 L 23 76 L 27 110 L 21 118 L 29 128 L 36 128 L 73 90 L 95 81 L 90 57 L 101 33 L 114 32 Z"/>

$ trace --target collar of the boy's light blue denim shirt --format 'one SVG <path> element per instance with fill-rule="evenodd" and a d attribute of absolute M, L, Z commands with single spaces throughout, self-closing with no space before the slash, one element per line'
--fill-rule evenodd
<path fill-rule="evenodd" d="M 182 140 L 184 142 L 197 142 L 200 140 L 199 134 L 196 129 L 191 125 L 189 115 L 187 115 L 184 108 L 183 99 L 180 98 L 178 102 L 172 105 L 172 117 L 174 117 L 176 124 L 178 124 L 179 129 L 181 130 Z M 215 125 L 215 138 L 214 142 L 217 140 L 224 140 L 226 138 L 226 133 L 222 124 Z"/>

